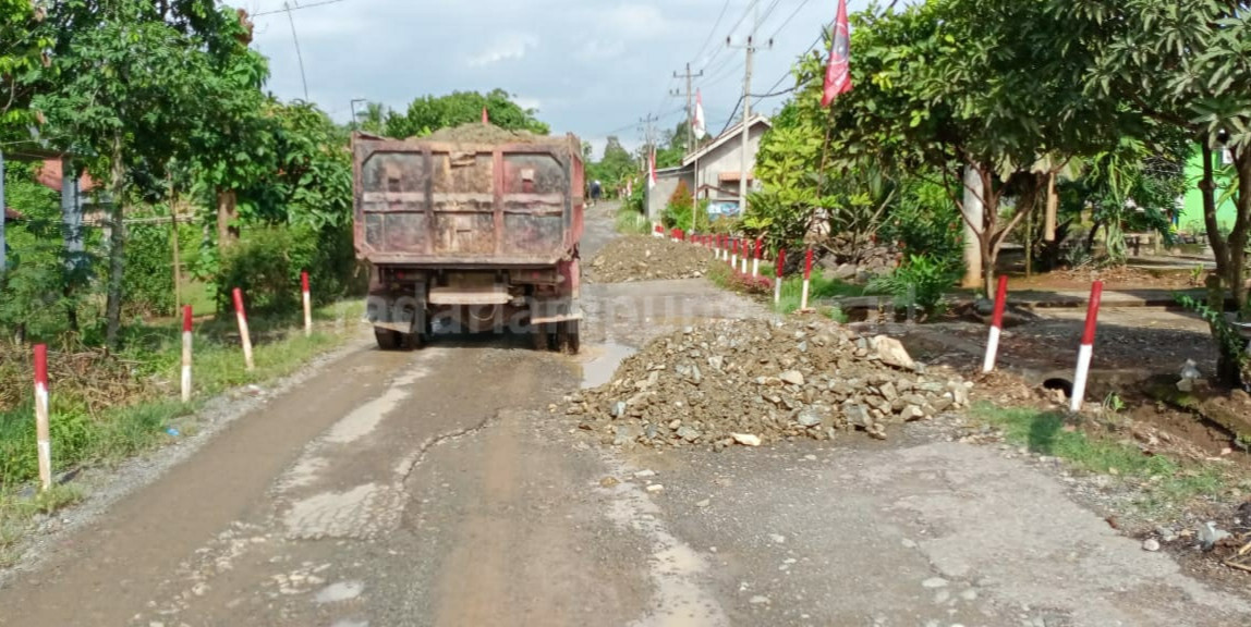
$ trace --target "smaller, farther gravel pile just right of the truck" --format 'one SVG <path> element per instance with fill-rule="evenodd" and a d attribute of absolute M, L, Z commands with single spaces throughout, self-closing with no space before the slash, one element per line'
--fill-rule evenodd
<path fill-rule="evenodd" d="M 712 252 L 664 237 L 633 235 L 610 241 L 585 267 L 597 284 L 697 279 L 708 272 Z"/>

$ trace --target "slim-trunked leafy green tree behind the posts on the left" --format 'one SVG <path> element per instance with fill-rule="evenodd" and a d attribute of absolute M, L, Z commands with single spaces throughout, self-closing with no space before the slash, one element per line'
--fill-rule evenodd
<path fill-rule="evenodd" d="M 163 181 L 170 160 L 205 102 L 210 41 L 196 27 L 220 29 L 224 14 L 210 0 L 161 2 L 115 0 L 96 6 L 66 1 L 44 25 L 56 30 L 49 76 L 33 106 L 46 114 L 54 136 L 74 137 L 91 154 L 88 169 L 108 180 L 109 281 L 106 342 L 116 347 L 121 326 L 126 209 L 141 184 Z"/>

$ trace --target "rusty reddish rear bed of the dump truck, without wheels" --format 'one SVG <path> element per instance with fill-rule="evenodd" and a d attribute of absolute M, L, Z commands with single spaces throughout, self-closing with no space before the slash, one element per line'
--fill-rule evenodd
<path fill-rule="evenodd" d="M 580 144 L 353 137 L 357 256 L 408 267 L 550 267 L 582 236 Z"/>

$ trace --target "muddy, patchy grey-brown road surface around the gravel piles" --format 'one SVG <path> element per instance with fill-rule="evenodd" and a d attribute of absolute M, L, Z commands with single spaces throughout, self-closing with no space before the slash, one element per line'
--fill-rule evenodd
<path fill-rule="evenodd" d="M 610 234 L 610 205 L 588 250 Z M 43 545 L 0 626 L 1245 626 L 1055 472 L 916 432 L 599 448 L 550 406 L 649 336 L 764 316 L 588 285 L 584 353 L 365 342 Z M 918 427 L 923 428 L 923 427 Z"/>

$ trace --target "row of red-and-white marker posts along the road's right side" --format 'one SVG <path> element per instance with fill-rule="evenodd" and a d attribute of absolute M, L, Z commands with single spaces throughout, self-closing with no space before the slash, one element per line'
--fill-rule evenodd
<path fill-rule="evenodd" d="M 656 225 L 656 235 L 664 237 L 664 229 Z M 671 234 L 673 241 L 687 241 L 686 234 L 681 229 L 674 229 Z M 747 260 L 752 257 L 752 277 L 759 276 L 761 259 L 763 252 L 762 240 L 757 239 L 752 250 L 748 249 L 747 240 L 731 237 L 728 235 L 696 235 L 691 236 L 696 245 L 711 247 L 719 261 L 728 261 L 736 272 L 747 274 Z M 739 270 L 739 252 L 742 252 L 742 270 Z M 807 311 L 808 296 L 812 286 L 812 249 L 804 251 L 803 261 L 803 291 L 799 299 L 799 310 Z M 773 281 L 773 304 L 782 301 L 782 271 L 786 266 L 786 249 L 778 250 L 777 276 Z M 991 317 L 990 337 L 986 341 L 986 357 L 982 363 L 982 372 L 995 370 L 996 358 L 1000 350 L 1000 340 L 1003 333 L 1003 310 L 1008 296 L 1008 277 L 1000 276 L 995 290 L 995 310 Z M 1070 400 L 1070 411 L 1081 411 L 1086 396 L 1086 383 L 1090 378 L 1091 361 L 1095 356 L 1095 331 L 1098 327 L 1098 307 L 1103 297 L 1103 282 L 1095 281 L 1091 285 L 1090 304 L 1086 307 L 1086 323 L 1082 328 L 1082 341 L 1077 348 L 1077 367 L 1073 372 L 1073 391 Z"/>

